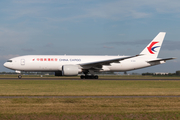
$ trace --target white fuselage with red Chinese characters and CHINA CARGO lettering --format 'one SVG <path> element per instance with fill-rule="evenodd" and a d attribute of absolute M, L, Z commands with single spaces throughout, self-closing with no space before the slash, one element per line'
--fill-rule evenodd
<path fill-rule="evenodd" d="M 80 65 L 121 57 L 127 56 L 27 55 L 12 58 L 8 62 L 4 63 L 4 66 L 17 71 L 51 72 L 62 71 L 63 65 Z M 160 62 L 150 64 L 147 63 L 147 60 L 150 59 L 145 56 L 138 56 L 135 58 L 122 60 L 119 63 L 103 65 L 100 71 L 123 72 L 161 64 Z"/>

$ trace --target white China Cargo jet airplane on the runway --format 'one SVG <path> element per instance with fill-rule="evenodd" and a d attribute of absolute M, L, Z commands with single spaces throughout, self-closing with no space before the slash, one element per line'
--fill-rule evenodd
<path fill-rule="evenodd" d="M 55 72 L 55 76 L 76 76 L 83 73 L 81 79 L 98 79 L 95 72 L 126 72 L 175 59 L 157 58 L 165 34 L 160 32 L 139 55 L 134 56 L 26 55 L 9 59 L 4 66 L 19 74 L 22 71 Z"/>

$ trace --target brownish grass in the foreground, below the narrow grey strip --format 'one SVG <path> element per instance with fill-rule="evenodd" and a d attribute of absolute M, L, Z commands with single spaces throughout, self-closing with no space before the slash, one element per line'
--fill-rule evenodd
<path fill-rule="evenodd" d="M 180 98 L 0 99 L 1 119 L 180 119 Z"/>

